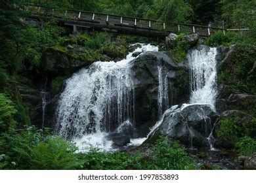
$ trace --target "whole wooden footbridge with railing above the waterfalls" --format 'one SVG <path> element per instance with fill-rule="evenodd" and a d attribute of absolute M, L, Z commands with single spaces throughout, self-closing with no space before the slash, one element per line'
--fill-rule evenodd
<path fill-rule="evenodd" d="M 72 26 L 74 31 L 80 27 L 96 31 L 108 31 L 116 33 L 129 33 L 144 37 L 164 38 L 169 33 L 198 33 L 200 37 L 208 37 L 215 31 L 225 31 L 223 28 L 209 27 L 193 24 L 165 24 L 158 20 L 135 18 L 130 16 L 118 16 L 83 10 L 58 10 L 38 5 L 27 5 L 26 10 L 32 14 L 26 20 L 41 20 L 54 18 L 62 25 Z"/>

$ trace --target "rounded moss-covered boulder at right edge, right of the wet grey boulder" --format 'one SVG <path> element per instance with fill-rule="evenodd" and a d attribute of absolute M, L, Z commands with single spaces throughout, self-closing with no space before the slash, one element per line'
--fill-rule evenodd
<path fill-rule="evenodd" d="M 217 148 L 234 148 L 238 138 L 245 135 L 255 137 L 255 125 L 253 117 L 249 114 L 240 110 L 226 110 L 213 128 L 214 145 Z"/>

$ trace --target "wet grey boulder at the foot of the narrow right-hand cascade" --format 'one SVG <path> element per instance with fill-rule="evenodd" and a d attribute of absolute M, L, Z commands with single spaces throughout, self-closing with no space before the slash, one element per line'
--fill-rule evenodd
<path fill-rule="evenodd" d="M 182 105 L 171 108 L 162 116 L 146 142 L 152 142 L 158 135 L 167 136 L 191 147 L 209 146 L 207 137 L 218 115 L 210 105 Z"/>

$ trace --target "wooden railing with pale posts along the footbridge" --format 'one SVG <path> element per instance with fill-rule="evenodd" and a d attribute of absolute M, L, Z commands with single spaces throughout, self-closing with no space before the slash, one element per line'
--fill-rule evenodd
<path fill-rule="evenodd" d="M 135 18 L 131 16 L 117 16 L 115 14 L 104 14 L 98 12 L 89 12 L 84 10 L 54 10 L 53 8 L 43 7 L 38 5 L 28 5 L 28 9 L 39 16 L 55 16 L 66 20 L 75 20 L 82 22 L 93 22 L 93 24 L 105 24 L 106 27 L 112 24 L 115 26 L 126 26 L 139 29 L 148 29 L 155 31 L 163 31 L 166 33 L 198 33 L 201 36 L 209 36 L 215 31 L 225 31 L 219 27 L 208 27 L 203 25 L 194 24 L 179 24 L 173 22 L 171 24 L 165 24 L 158 20 L 150 20 L 145 18 Z"/>

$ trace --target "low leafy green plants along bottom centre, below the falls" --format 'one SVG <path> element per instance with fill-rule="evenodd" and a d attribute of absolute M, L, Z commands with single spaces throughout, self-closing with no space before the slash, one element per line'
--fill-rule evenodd
<path fill-rule="evenodd" d="M 169 146 L 163 138 L 158 140 L 150 156 L 96 149 L 77 156 L 84 161 L 83 169 L 196 169 L 195 161 L 186 154 L 184 147 L 177 142 Z"/>

